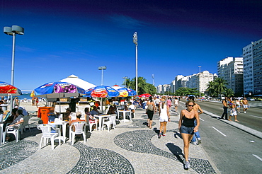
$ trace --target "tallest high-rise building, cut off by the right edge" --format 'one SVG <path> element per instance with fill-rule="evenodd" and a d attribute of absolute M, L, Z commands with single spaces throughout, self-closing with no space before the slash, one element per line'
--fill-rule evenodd
<path fill-rule="evenodd" d="M 262 94 L 262 39 L 243 48 L 244 94 Z"/>

